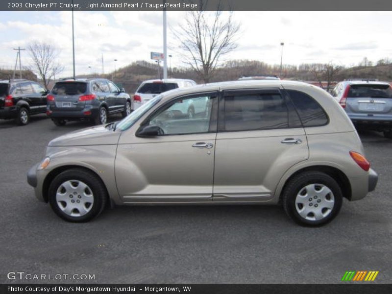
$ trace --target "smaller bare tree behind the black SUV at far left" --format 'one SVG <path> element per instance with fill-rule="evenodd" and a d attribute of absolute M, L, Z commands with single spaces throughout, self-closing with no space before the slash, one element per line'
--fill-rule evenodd
<path fill-rule="evenodd" d="M 56 61 L 60 51 L 50 43 L 34 42 L 28 46 L 28 52 L 32 59 L 30 70 L 42 79 L 45 87 L 48 87 L 50 79 L 64 70 Z"/>

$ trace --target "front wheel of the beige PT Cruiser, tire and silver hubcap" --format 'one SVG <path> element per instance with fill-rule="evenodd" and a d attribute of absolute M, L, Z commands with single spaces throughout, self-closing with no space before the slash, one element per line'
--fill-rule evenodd
<path fill-rule="evenodd" d="M 90 221 L 104 209 L 107 192 L 100 179 L 83 169 L 70 169 L 58 174 L 50 183 L 49 203 L 62 219 Z"/>

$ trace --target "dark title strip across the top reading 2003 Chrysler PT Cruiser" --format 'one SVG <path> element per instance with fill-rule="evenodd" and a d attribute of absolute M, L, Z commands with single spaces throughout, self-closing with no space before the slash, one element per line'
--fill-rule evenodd
<path fill-rule="evenodd" d="M 391 0 L 1 0 L 0 10 L 392 10 Z"/>

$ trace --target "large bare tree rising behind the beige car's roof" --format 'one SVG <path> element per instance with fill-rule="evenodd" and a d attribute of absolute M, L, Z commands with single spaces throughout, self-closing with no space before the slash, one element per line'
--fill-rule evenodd
<path fill-rule="evenodd" d="M 235 41 L 240 29 L 233 20 L 232 11 L 224 17 L 221 2 L 216 11 L 205 11 L 207 2 L 200 0 L 200 10 L 189 11 L 186 24 L 172 29 L 184 63 L 205 83 L 211 80 L 221 57 L 237 48 Z"/>

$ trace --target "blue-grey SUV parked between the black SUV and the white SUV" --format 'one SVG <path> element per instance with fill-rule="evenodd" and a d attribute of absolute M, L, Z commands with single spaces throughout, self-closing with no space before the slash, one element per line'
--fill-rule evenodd
<path fill-rule="evenodd" d="M 107 117 L 131 113 L 131 98 L 124 89 L 103 78 L 62 79 L 48 95 L 47 114 L 55 125 L 72 120 L 90 120 L 104 124 Z"/>

